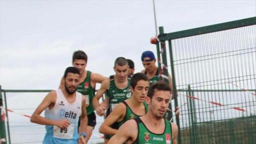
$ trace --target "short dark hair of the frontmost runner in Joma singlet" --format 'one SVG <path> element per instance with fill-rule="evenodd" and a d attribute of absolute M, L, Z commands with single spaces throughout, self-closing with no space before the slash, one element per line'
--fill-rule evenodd
<path fill-rule="evenodd" d="M 171 91 L 169 84 L 164 81 L 158 81 L 153 83 L 147 90 L 147 96 L 152 99 L 153 95 L 155 94 L 155 90 L 163 90 L 163 91 Z"/>

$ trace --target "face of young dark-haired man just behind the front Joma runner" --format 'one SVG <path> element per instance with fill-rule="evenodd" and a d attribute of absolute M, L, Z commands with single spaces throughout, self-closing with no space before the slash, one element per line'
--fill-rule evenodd
<path fill-rule="evenodd" d="M 138 102 L 144 102 L 145 97 L 147 96 L 148 87 L 148 81 L 139 80 L 134 89 L 131 87 L 132 97 L 134 97 Z"/>

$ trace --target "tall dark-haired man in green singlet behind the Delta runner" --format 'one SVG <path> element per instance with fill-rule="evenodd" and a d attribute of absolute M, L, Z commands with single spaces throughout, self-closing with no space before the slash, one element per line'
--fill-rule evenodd
<path fill-rule="evenodd" d="M 87 115 L 88 115 L 88 126 L 86 128 L 86 142 L 88 142 L 90 136 L 92 135 L 92 131 L 96 125 L 96 115 L 94 113 L 92 99 L 95 95 L 95 86 L 96 83 L 102 83 L 106 77 L 103 77 L 100 74 L 93 73 L 89 70 L 85 70 L 87 65 L 88 57 L 84 51 L 78 50 L 75 51 L 72 57 L 72 64 L 74 67 L 78 68 L 80 71 L 80 79 L 79 86 L 77 87 L 77 92 L 85 95 L 86 97 L 86 107 Z M 61 80 L 61 85 L 59 88 L 64 86 L 63 79 Z M 106 103 L 106 102 L 105 102 Z M 107 105 L 107 104 L 102 104 Z"/>

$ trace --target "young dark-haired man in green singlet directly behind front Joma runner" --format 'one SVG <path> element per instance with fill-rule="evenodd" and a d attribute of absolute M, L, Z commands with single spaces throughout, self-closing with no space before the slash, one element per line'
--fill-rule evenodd
<path fill-rule="evenodd" d="M 114 122 L 118 122 L 118 127 L 120 127 L 127 120 L 145 115 L 148 107 L 144 100 L 147 95 L 148 87 L 149 81 L 145 74 L 134 74 L 131 77 L 131 98 L 118 104 L 115 109 L 113 109 L 110 115 L 100 126 L 99 132 L 102 134 L 114 135 L 117 131 L 117 129 L 113 129 L 111 127 Z"/>

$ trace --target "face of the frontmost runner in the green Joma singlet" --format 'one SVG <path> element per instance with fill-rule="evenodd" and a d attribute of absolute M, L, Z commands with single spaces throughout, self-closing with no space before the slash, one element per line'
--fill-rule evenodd
<path fill-rule="evenodd" d="M 163 118 L 169 106 L 170 96 L 170 91 L 160 90 L 154 93 L 149 105 L 150 111 L 156 118 Z"/>

